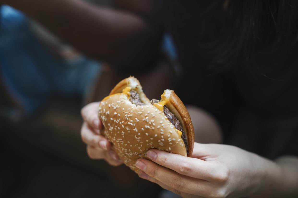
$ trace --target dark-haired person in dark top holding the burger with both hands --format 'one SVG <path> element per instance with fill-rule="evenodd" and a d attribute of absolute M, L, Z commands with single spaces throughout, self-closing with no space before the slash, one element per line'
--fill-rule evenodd
<path fill-rule="evenodd" d="M 122 71 L 149 69 L 163 31 L 170 32 L 183 69 L 179 96 L 202 115 L 193 119 L 196 139 L 215 131 L 204 143 L 235 146 L 196 143 L 192 158 L 151 150 L 153 162 L 136 164 L 140 177 L 183 197 L 297 197 L 297 1 L 119 0 L 118 9 L 75 0 L 1 2 Z M 119 165 L 97 133 L 96 105 L 82 111 L 89 156 Z"/>

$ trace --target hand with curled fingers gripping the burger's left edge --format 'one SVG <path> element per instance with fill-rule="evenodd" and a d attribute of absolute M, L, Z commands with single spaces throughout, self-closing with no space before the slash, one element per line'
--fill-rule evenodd
<path fill-rule="evenodd" d="M 81 129 L 82 140 L 87 144 L 87 153 L 91 159 L 104 159 L 109 164 L 118 166 L 122 164 L 122 160 L 111 150 L 111 143 L 100 135 L 103 124 L 98 118 L 98 106 L 99 102 L 93 102 L 81 110 L 84 120 Z"/>

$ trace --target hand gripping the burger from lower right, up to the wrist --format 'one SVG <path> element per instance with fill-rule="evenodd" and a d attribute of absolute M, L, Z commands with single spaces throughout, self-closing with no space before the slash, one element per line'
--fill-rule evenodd
<path fill-rule="evenodd" d="M 230 145 L 195 143 L 192 157 L 157 149 L 147 156 L 152 161 L 136 162 L 139 176 L 182 197 L 246 197 L 262 177 L 262 158 Z"/>

